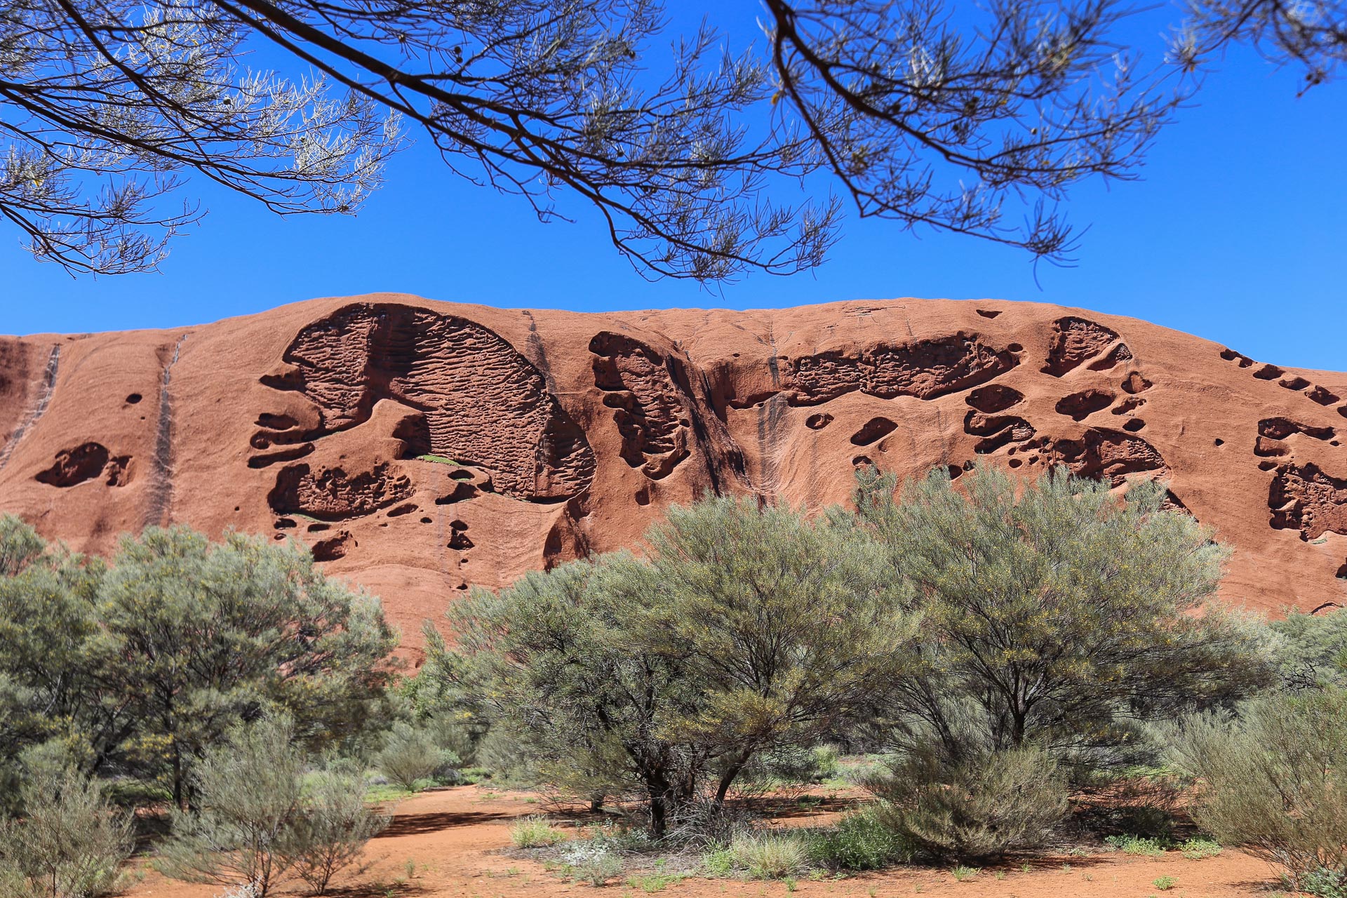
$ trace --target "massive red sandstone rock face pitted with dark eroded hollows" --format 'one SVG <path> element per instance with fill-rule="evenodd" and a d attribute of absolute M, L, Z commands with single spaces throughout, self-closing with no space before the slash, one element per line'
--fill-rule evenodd
<path fill-rule="evenodd" d="M 108 552 L 302 540 L 419 642 L 469 584 L 633 545 L 706 491 L 818 509 L 855 464 L 1065 464 L 1234 547 L 1230 602 L 1347 602 L 1347 374 L 1145 322 L 893 300 L 583 315 L 373 295 L 174 331 L 0 338 L 0 512 Z"/>

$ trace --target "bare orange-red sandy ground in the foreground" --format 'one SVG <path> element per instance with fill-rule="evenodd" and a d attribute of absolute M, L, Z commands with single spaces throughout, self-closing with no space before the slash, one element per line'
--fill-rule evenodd
<path fill-rule="evenodd" d="M 509 821 L 537 813 L 521 793 L 488 793 L 478 786 L 415 796 L 399 805 L 392 825 L 370 843 L 370 856 L 379 863 L 365 875 L 342 879 L 335 895 L 345 898 L 504 898 L 515 895 L 644 894 L 612 880 L 603 889 L 571 883 L 548 872 L 543 864 L 509 856 Z M 797 817 L 793 824 L 826 820 Z M 416 864 L 416 876 L 405 876 L 407 862 Z M 1063 868 L 1063 864 L 1070 864 Z M 948 871 L 916 867 L 849 876 L 842 880 L 796 883 L 799 895 L 836 898 L 888 898 L 892 895 L 956 895 L 958 898 L 1145 898 L 1171 894 L 1183 898 L 1233 898 L 1266 895 L 1276 887 L 1276 871 L 1261 860 L 1238 851 L 1216 858 L 1188 860 L 1171 851 L 1164 858 L 1129 858 L 1099 854 L 1090 858 L 1044 856 L 1033 860 L 1029 872 L 1018 862 L 1005 867 L 1005 879 L 995 868 L 956 882 Z M 1175 887 L 1158 893 L 1153 880 L 1172 876 Z M 392 891 L 388 891 L 388 890 Z M 158 874 L 128 894 L 131 898 L 213 898 L 222 890 L 166 880 Z M 283 889 L 280 894 L 298 894 Z M 669 898 L 710 898 L 711 895 L 785 895 L 783 882 L 735 882 L 729 879 L 684 879 L 664 889 Z"/>

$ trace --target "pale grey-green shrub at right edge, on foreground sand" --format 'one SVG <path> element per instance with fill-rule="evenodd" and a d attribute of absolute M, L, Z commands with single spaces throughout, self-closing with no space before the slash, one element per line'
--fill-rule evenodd
<path fill-rule="evenodd" d="M 1347 691 L 1266 696 L 1241 720 L 1188 720 L 1172 742 L 1202 784 L 1192 816 L 1222 844 L 1281 864 L 1297 885 L 1347 870 Z"/>

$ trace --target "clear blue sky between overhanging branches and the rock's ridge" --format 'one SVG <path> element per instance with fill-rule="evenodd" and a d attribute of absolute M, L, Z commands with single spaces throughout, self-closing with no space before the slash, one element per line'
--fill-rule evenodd
<path fill-rule="evenodd" d="M 746 4 L 749 5 L 749 4 Z M 841 299 L 1002 298 L 1133 315 L 1261 361 L 1347 370 L 1347 82 L 1297 98 L 1299 73 L 1227 59 L 1161 133 L 1137 183 L 1078 188 L 1079 265 L 1039 267 L 964 237 L 849 218 L 815 275 L 723 292 L 647 283 L 594 218 L 539 223 L 512 197 L 449 175 L 415 147 L 358 217 L 277 218 L 193 182 L 210 209 L 160 273 L 71 279 L 0 226 L 0 333 L 167 327 L 311 296 L 405 291 L 578 311 L 754 308 Z"/>

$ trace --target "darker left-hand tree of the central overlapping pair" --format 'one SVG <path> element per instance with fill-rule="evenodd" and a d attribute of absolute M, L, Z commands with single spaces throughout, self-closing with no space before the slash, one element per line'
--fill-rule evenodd
<path fill-rule="evenodd" d="M 637 792 L 664 835 L 713 755 L 665 730 L 695 711 L 696 688 L 678 658 L 630 642 L 603 574 L 574 561 L 475 590 L 447 613 L 457 652 L 431 641 L 426 666 L 475 696 L 477 716 L 528 745 L 556 785 Z"/>

